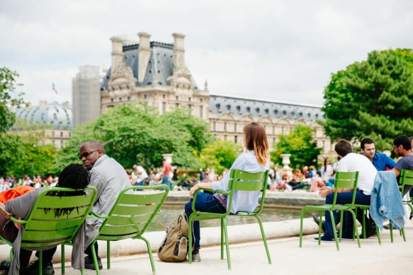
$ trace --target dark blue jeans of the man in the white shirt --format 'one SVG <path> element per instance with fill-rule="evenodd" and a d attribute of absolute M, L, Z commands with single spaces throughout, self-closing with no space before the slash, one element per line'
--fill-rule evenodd
<path fill-rule="evenodd" d="M 327 197 L 325 197 L 325 204 L 333 204 L 333 199 L 334 199 L 334 193 L 328 194 Z M 350 204 L 351 200 L 353 199 L 353 192 L 342 192 L 337 194 L 337 204 Z M 370 205 L 370 195 L 364 195 L 362 191 L 357 191 L 356 192 L 356 200 L 355 204 L 361 204 L 361 205 Z M 330 213 L 328 211 L 325 211 L 325 236 L 329 238 L 334 238 L 334 232 L 333 230 L 336 230 L 336 228 L 333 228 L 333 223 L 331 220 Z M 336 211 L 333 211 L 333 216 L 334 216 L 334 222 L 337 225 L 337 213 Z M 353 236 L 353 230 L 354 230 L 354 223 L 353 223 L 353 216 L 349 211 L 344 211 L 344 221 L 342 221 L 342 226 L 343 226 L 343 235 L 344 236 Z"/>

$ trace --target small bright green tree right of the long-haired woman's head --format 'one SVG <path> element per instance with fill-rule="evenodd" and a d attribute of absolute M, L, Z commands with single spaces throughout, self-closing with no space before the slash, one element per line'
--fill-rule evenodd
<path fill-rule="evenodd" d="M 297 124 L 288 135 L 281 135 L 276 150 L 270 152 L 271 160 L 282 164 L 281 154 L 291 154 L 291 167 L 301 168 L 304 165 L 317 166 L 317 156 L 321 148 L 313 141 L 314 129 L 309 126 Z"/>

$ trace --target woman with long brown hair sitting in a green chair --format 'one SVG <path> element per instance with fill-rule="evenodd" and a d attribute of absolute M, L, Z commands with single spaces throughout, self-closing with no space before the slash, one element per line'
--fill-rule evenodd
<path fill-rule="evenodd" d="M 245 125 L 243 129 L 243 142 L 246 148 L 246 152 L 240 154 L 232 164 L 230 170 L 225 174 L 221 181 L 214 182 L 200 182 L 192 187 L 189 191 L 191 201 L 185 205 L 185 213 L 190 216 L 192 214 L 192 199 L 194 193 L 199 188 L 206 188 L 212 190 L 228 191 L 228 181 L 231 169 L 239 169 L 247 172 L 262 172 L 270 168 L 270 156 L 268 153 L 269 146 L 267 135 L 264 127 L 256 122 Z M 207 194 L 198 193 L 195 203 L 195 209 L 197 211 L 213 212 L 213 213 L 225 213 L 228 207 L 231 208 L 231 213 L 237 211 L 253 212 L 258 206 L 258 198 L 260 192 L 234 192 L 232 198 L 232 205 L 229 204 L 227 196 L 223 194 Z M 199 254 L 200 249 L 200 228 L 199 221 L 194 221 L 193 224 L 195 246 L 192 252 L 193 261 L 201 261 Z"/>

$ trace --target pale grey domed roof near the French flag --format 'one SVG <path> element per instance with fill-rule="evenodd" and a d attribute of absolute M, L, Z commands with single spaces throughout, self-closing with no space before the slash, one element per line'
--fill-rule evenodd
<path fill-rule="evenodd" d="M 48 104 L 46 101 L 40 101 L 38 106 L 18 109 L 16 116 L 27 122 L 50 124 L 53 129 L 72 129 L 72 108 L 68 102 Z"/>

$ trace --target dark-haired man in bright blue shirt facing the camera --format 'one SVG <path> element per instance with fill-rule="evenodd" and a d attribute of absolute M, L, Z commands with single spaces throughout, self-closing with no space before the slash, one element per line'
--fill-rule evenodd
<path fill-rule="evenodd" d="M 392 169 L 396 162 L 384 153 L 376 153 L 374 141 L 371 138 L 364 138 L 360 143 L 361 152 L 373 163 L 377 171 Z"/>

